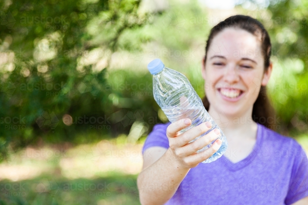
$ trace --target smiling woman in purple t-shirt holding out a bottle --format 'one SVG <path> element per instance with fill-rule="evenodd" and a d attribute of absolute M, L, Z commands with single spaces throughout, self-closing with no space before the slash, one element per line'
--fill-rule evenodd
<path fill-rule="evenodd" d="M 209 164 L 201 162 L 221 140 L 196 152 L 217 138 L 218 129 L 188 143 L 208 131 L 209 122 L 182 134 L 190 119 L 155 125 L 142 150 L 141 204 L 308 204 L 305 152 L 269 129 L 270 55 L 270 37 L 256 19 L 236 15 L 213 27 L 203 59 L 203 103 L 227 137 L 227 152 Z"/>

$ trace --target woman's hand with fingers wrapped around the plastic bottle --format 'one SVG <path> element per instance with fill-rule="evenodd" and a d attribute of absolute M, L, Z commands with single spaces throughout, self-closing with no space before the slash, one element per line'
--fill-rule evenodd
<path fill-rule="evenodd" d="M 217 139 L 220 135 L 219 129 L 214 129 L 208 134 L 189 143 L 191 140 L 209 131 L 212 127 L 210 122 L 204 122 L 182 134 L 179 133 L 180 130 L 188 127 L 190 124 L 191 120 L 185 118 L 171 123 L 167 128 L 169 147 L 172 150 L 173 156 L 175 156 L 179 166 L 182 166 L 183 168 L 193 168 L 204 160 L 207 160 L 210 156 L 217 152 L 222 143 L 220 139 Z M 210 148 L 197 153 L 198 150 L 209 145 L 215 139 L 217 140 Z"/>

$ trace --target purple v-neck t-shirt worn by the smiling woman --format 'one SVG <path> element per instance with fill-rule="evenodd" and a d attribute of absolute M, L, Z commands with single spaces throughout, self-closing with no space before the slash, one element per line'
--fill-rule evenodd
<path fill-rule="evenodd" d="M 169 148 L 167 124 L 156 124 L 142 153 Z M 166 204 L 292 204 L 308 196 L 308 159 L 292 138 L 258 124 L 253 151 L 232 163 L 224 155 L 190 169 Z"/>

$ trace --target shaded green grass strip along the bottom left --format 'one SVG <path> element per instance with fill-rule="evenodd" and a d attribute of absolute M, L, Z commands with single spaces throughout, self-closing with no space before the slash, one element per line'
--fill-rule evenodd
<path fill-rule="evenodd" d="M 0 181 L 0 205 L 140 204 L 137 175 L 74 179 L 40 175 L 23 181 Z"/>

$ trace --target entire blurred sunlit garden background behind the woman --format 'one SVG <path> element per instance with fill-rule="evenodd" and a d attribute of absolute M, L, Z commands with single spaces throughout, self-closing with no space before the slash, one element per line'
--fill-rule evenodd
<path fill-rule="evenodd" d="M 0 204 L 140 204 L 142 145 L 168 121 L 146 66 L 162 59 L 203 97 L 206 38 L 234 14 L 269 31 L 272 126 L 308 150 L 307 8 L 305 0 L 2 0 Z"/>

